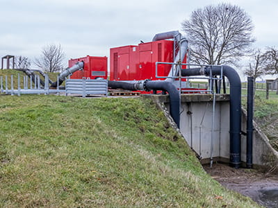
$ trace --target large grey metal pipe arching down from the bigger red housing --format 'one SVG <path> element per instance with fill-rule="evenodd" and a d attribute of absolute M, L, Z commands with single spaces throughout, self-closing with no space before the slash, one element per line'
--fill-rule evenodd
<path fill-rule="evenodd" d="M 181 33 L 179 33 L 179 31 L 170 31 L 167 33 L 158 33 L 154 35 L 152 41 L 166 40 L 174 37 L 177 37 L 177 40 L 179 42 L 179 52 L 177 53 L 177 56 L 174 58 L 174 63 L 178 64 L 179 62 L 182 62 L 184 57 L 186 56 L 186 52 L 188 49 L 188 40 L 186 40 L 186 37 L 183 37 Z M 168 77 L 165 79 L 165 81 L 173 83 L 174 77 L 177 76 L 178 73 L 179 69 L 177 65 L 172 65 Z"/>

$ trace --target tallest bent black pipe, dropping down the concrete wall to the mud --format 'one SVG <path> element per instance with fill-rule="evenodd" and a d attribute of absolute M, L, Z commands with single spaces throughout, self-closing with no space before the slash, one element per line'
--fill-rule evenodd
<path fill-rule="evenodd" d="M 241 82 L 235 69 L 222 66 L 222 73 L 229 79 L 230 85 L 230 165 L 240 167 L 240 132 L 241 132 Z M 198 69 L 181 69 L 182 76 L 220 75 L 220 67 L 202 67 Z"/>

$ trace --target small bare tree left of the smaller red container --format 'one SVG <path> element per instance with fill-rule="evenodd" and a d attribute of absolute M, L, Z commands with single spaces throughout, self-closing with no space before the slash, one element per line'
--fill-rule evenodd
<path fill-rule="evenodd" d="M 65 53 L 62 46 L 50 44 L 42 48 L 40 58 L 35 58 L 35 64 L 43 71 L 56 72 L 63 69 Z"/>

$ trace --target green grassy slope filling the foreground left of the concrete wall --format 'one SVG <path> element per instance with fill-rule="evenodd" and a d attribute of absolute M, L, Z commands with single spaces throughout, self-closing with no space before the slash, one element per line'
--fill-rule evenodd
<path fill-rule="evenodd" d="M 0 207 L 257 207 L 142 98 L 1 96 Z"/>

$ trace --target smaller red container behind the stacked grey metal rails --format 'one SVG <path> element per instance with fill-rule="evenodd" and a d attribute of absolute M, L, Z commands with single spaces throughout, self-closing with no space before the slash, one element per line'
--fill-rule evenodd
<path fill-rule="evenodd" d="M 87 55 L 83 58 L 75 58 L 69 60 L 69 67 L 72 67 L 76 62 L 84 62 L 83 70 L 75 71 L 70 78 L 72 79 L 96 79 L 104 78 L 107 79 L 107 57 L 98 57 Z"/>

